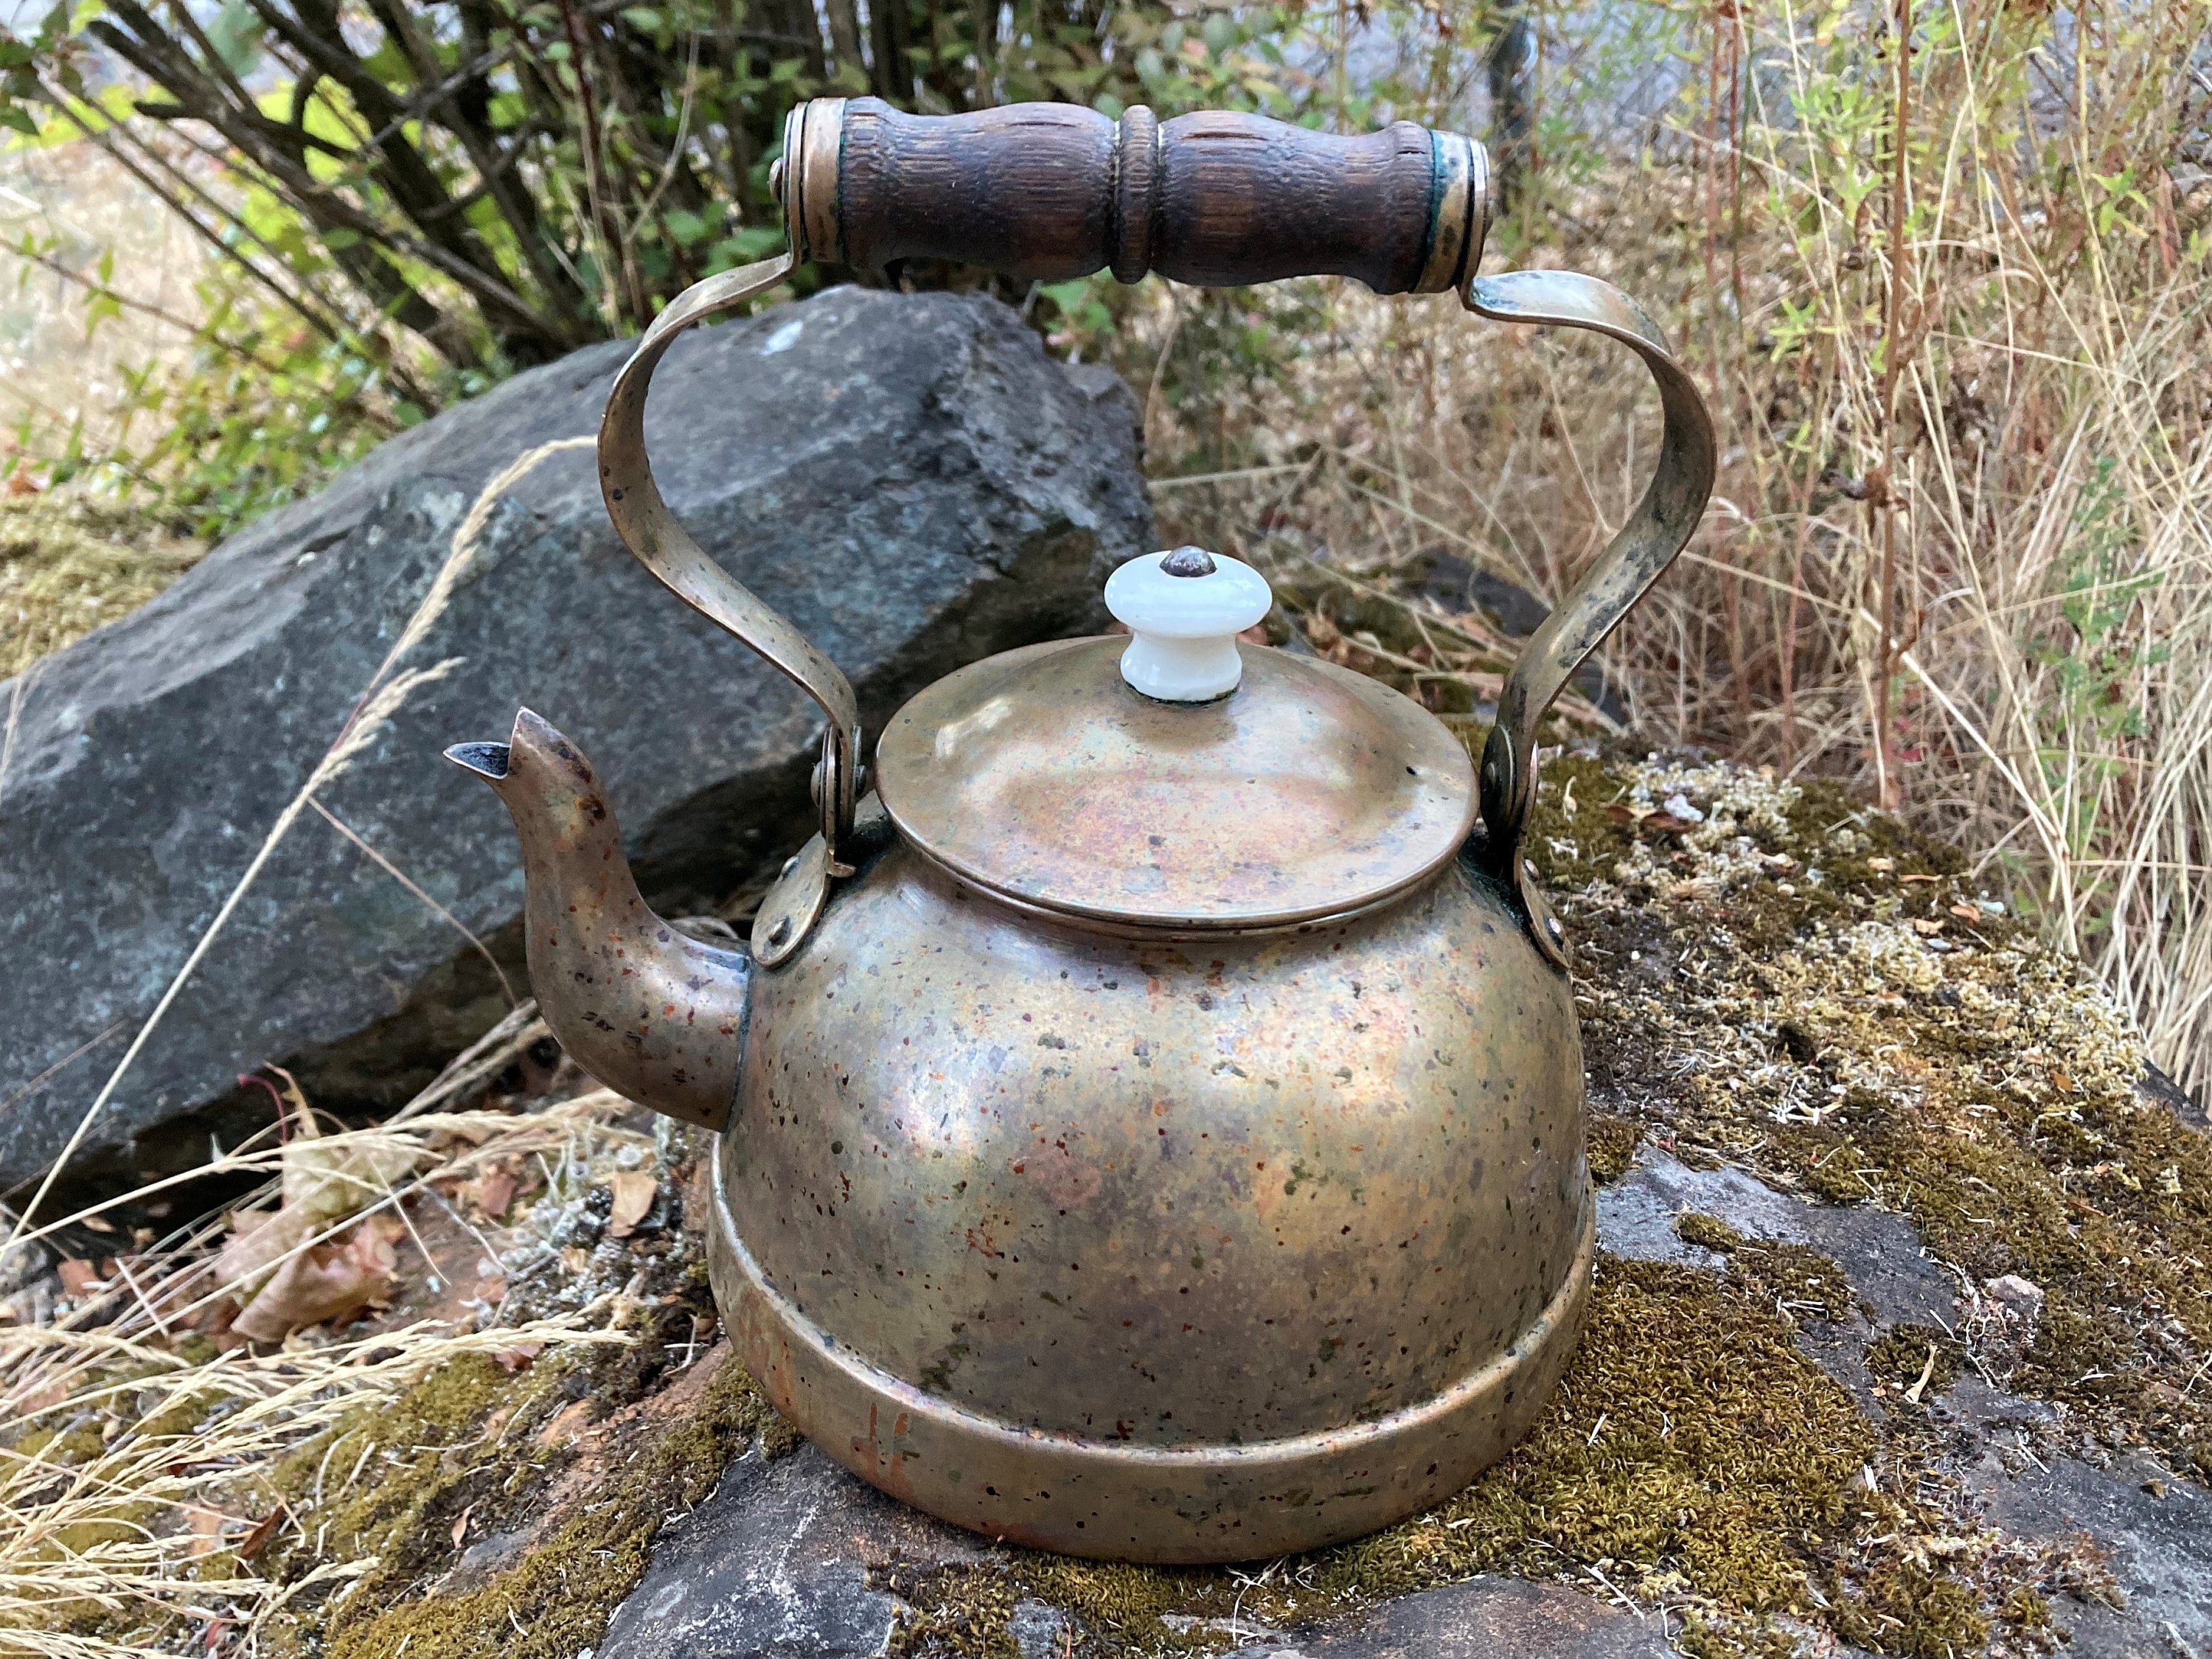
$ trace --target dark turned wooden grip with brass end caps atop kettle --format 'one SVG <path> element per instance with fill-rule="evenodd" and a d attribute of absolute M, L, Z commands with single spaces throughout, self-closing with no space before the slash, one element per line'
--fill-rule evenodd
<path fill-rule="evenodd" d="M 1458 133 L 1336 137 L 1144 106 L 1113 122 L 1079 104 L 905 115 L 823 97 L 792 113 L 776 184 L 801 257 L 949 259 L 1022 281 L 1110 268 L 1124 283 L 1356 276 L 1433 294 L 1464 283 L 1489 221 L 1482 146 Z"/>

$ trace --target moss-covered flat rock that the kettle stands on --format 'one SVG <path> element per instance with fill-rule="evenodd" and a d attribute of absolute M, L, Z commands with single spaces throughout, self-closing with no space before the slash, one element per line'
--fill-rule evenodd
<path fill-rule="evenodd" d="M 1363 1648 L 1360 1619 L 1447 1655 L 1562 1597 L 1579 1613 L 1544 1637 L 1557 1652 L 1666 1630 L 1694 1655 L 1955 1659 L 2051 1652 L 2097 1619 L 2203 1641 L 2170 1586 L 2212 1579 L 2212 1389 L 2192 1387 L 2212 1155 L 2139 1093 L 2126 1020 L 1953 849 L 1827 785 L 1568 757 L 1531 843 L 1577 942 L 1613 1248 L 1559 1394 L 1451 1502 L 1237 1571 L 1068 1562 L 911 1515 L 818 1451 L 774 1460 L 790 1431 L 726 1369 L 599 1509 L 540 1517 L 520 1562 L 460 1593 L 431 1586 L 473 1475 L 440 1464 L 442 1495 L 378 1511 L 383 1537 L 405 1515 L 429 1544 L 319 1650 L 657 1657 L 774 1604 L 911 1659 L 1219 1652 L 1261 1630 L 1391 1650 Z M 1661 1172 L 1714 1197 L 1630 1248 L 1608 1217 Z M 1858 1237 L 1887 1256 L 1829 1243 Z M 2006 1274 L 2042 1290 L 2033 1312 L 1986 1290 Z M 1885 1290 L 1905 1279 L 1911 1305 Z M 2048 1513 L 1993 1504 L 2015 1467 L 2051 1478 Z M 2166 1471 L 2157 1495 L 2139 1467 Z M 2068 1506 L 2090 1491 L 2104 1509 Z"/>

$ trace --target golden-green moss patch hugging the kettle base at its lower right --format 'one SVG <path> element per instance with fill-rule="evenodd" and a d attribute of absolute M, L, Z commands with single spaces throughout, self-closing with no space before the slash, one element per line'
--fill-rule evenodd
<path fill-rule="evenodd" d="M 1582 1347 L 1537 1429 L 1427 1515 L 1263 1582 L 1031 1553 L 1004 1573 L 894 1568 L 878 1582 L 918 1608 L 896 1648 L 916 1659 L 998 1659 L 1022 1595 L 1073 1613 L 1099 1652 L 1212 1652 L 1221 1630 L 1175 1630 L 1161 1615 L 1281 1628 L 1484 1571 L 1597 1566 L 1732 1610 L 1809 1615 L 1814 1575 L 1834 1577 L 1858 1537 L 1898 1522 L 1854 1493 L 1874 1458 L 1874 1427 L 1798 1354 L 1761 1279 L 1606 1256 Z M 1756 1630 L 1717 1650 L 1750 1639 Z"/>

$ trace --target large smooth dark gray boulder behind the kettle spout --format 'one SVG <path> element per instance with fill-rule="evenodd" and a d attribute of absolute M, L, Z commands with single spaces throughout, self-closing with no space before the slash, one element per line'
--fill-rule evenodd
<path fill-rule="evenodd" d="M 307 779 L 484 484 L 597 429 L 626 345 L 524 374 L 254 524 L 22 686 L 0 779 L 0 1192 L 77 1126 L 195 938 Z M 1046 358 L 989 299 L 841 288 L 684 338 L 655 378 L 661 487 L 730 571 L 854 679 L 869 730 L 938 675 L 1079 633 L 1152 544 L 1133 405 Z M 639 883 L 728 894 L 805 838 L 816 717 L 664 593 L 606 524 L 588 449 L 491 513 L 445 619 L 462 657 L 323 805 L 522 984 L 522 876 L 489 790 L 440 748 L 520 703 L 608 776 Z M 206 1157 L 265 1121 L 239 1073 L 292 1064 L 316 1104 L 387 1108 L 504 1009 L 489 964 L 305 814 L 91 1126 L 71 1179 Z"/>

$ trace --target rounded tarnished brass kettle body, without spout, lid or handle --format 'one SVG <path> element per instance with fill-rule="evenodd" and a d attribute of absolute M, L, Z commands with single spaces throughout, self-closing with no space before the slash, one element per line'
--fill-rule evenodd
<path fill-rule="evenodd" d="M 1464 865 L 1177 945 L 894 847 L 754 993 L 717 1298 L 781 1411 L 949 1520 L 1135 1559 L 1349 1537 L 1500 1455 L 1573 1345 L 1568 984 Z"/>

